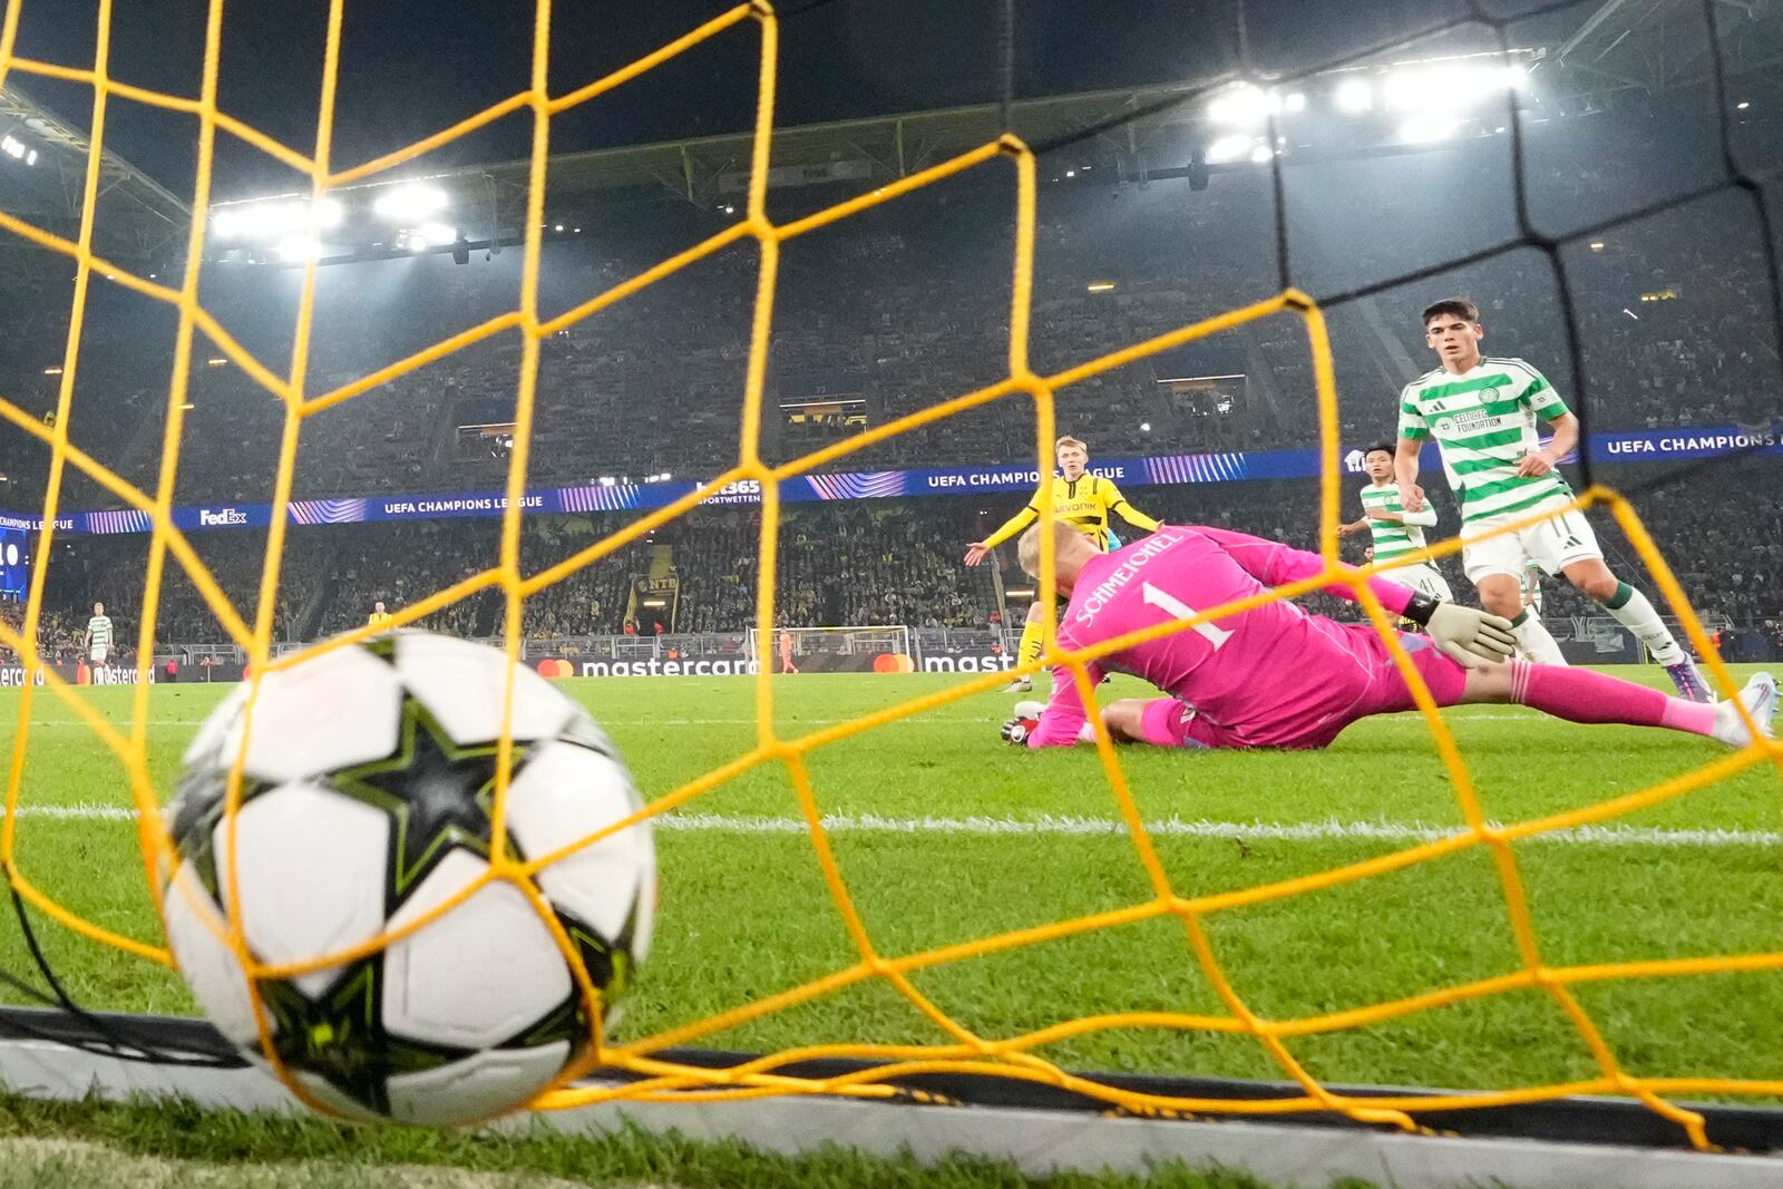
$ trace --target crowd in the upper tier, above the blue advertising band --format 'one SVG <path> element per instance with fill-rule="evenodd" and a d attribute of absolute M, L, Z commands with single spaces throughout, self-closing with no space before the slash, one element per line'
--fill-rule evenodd
<path fill-rule="evenodd" d="M 1605 141 L 1594 159 L 1614 160 L 1621 152 L 1603 127 L 1590 135 Z M 1423 157 L 1371 162 L 1353 178 L 1369 184 L 1366 223 L 1296 214 L 1289 275 L 1305 273 L 1312 280 L 1296 280 L 1318 292 L 1314 280 L 1337 289 L 1466 255 L 1458 248 L 1471 241 L 1457 244 L 1430 200 L 1466 193 L 1473 175 L 1482 180 L 1478 193 L 1498 194 L 1501 152 L 1491 141 L 1455 148 L 1441 171 L 1430 171 Z M 1633 152 L 1630 169 L 1640 168 Z M 1300 176 L 1291 173 L 1289 182 Z M 1628 207 L 1630 176 L 1621 171 L 1580 168 L 1567 184 L 1567 205 L 1580 219 Z M 861 419 L 883 424 L 1006 374 L 1007 200 L 1004 182 L 966 178 L 788 246 L 760 426 L 770 460 L 833 440 Z M 1293 207 L 1293 191 L 1289 200 Z M 1507 223 L 1508 203 L 1494 198 L 1489 207 L 1476 212 L 1482 228 Z M 1264 171 L 1221 173 L 1200 193 L 1182 180 L 1048 185 L 1036 226 L 1032 367 L 1052 373 L 1269 296 L 1278 280 L 1271 212 Z M 1703 235 L 1708 217 L 1724 234 Z M 590 219 L 588 235 L 547 246 L 542 301 L 547 312 L 574 307 L 724 221 L 674 205 L 606 212 L 599 225 Z M 1423 248 L 1409 251 L 1409 242 Z M 55 298 L 66 273 L 48 260 L 43 276 L 4 282 L 7 308 L 25 310 L 41 333 L 11 337 L 0 348 L 0 390 L 34 412 L 53 408 L 61 387 L 61 376 L 45 373 L 61 364 L 53 321 L 66 310 Z M 547 337 L 537 365 L 530 483 L 663 472 L 704 478 L 733 465 L 758 264 L 745 241 Z M 346 385 L 506 310 L 517 267 L 517 253 L 503 253 L 465 266 L 426 257 L 323 269 L 307 390 Z M 253 266 L 214 266 L 205 282 L 207 301 L 275 367 L 289 357 L 285 282 L 285 273 Z M 1091 282 L 1109 287 L 1091 292 Z M 1585 406 L 1596 430 L 1778 419 L 1783 365 L 1772 342 L 1774 301 L 1758 226 L 1738 203 L 1630 221 L 1569 246 L 1567 303 L 1549 257 L 1521 248 L 1335 307 L 1328 332 L 1346 439 L 1391 431 L 1396 387 L 1430 362 L 1416 310 L 1457 291 L 1478 299 L 1487 351 L 1535 362 Z M 1567 314 L 1578 349 L 1565 333 Z M 71 439 L 152 487 L 173 321 L 152 301 L 100 287 L 87 326 Z M 285 403 L 212 349 L 200 344 L 177 497 L 264 501 Z M 512 421 L 521 369 L 521 339 L 508 332 L 305 417 L 294 496 L 499 487 L 506 442 L 460 428 Z M 1212 401 L 1159 383 L 1184 376 L 1239 380 Z M 1573 390 L 1576 380 L 1585 383 L 1585 399 Z M 1057 396 L 1057 422 L 1104 456 L 1309 447 L 1316 440 L 1312 392 L 1305 324 L 1280 314 L 1068 385 Z M 852 401 L 856 421 L 790 421 L 795 406 L 826 399 Z M 1031 453 L 1032 426 L 1032 401 L 1015 396 L 833 465 L 1015 462 Z M 45 474 L 43 449 L 7 435 L 0 465 L 11 490 L 32 492 Z M 114 503 L 70 476 L 64 506 Z"/>

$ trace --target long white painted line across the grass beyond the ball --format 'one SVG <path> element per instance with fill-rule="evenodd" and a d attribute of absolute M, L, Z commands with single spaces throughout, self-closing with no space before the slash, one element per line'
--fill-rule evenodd
<path fill-rule="evenodd" d="M 21 806 L 20 818 L 59 822 L 132 822 L 136 809 L 125 806 Z M 877 813 L 838 813 L 822 818 L 833 834 L 945 834 L 963 838 L 1123 838 L 1127 827 L 1107 818 L 1077 815 L 1041 815 L 1034 818 L 893 818 Z M 804 818 L 733 816 L 722 813 L 667 813 L 654 818 L 656 829 L 713 834 L 804 834 Z M 1236 838 L 1243 841 L 1439 841 L 1466 831 L 1458 825 L 1423 822 L 1212 822 L 1207 818 L 1161 818 L 1146 822 L 1148 834 L 1159 838 Z M 1649 825 L 1578 825 L 1565 831 L 1532 834 L 1528 841 L 1587 847 L 1776 847 L 1783 832 L 1746 829 L 1656 829 Z"/>

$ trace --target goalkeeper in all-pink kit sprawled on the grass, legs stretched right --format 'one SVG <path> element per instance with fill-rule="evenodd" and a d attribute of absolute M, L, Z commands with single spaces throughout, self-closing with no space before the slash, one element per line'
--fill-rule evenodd
<path fill-rule="evenodd" d="M 1097 547 L 1068 524 L 1054 524 L 1054 578 L 1070 595 L 1059 617 L 1059 645 L 1084 649 L 1141 627 L 1189 619 L 1323 570 L 1318 554 L 1218 528 L 1161 524 L 1116 553 Z M 1022 535 L 1022 569 L 1038 576 L 1041 526 Z M 1733 747 L 1751 733 L 1733 702 L 1667 697 L 1589 668 L 1508 660 L 1517 645 L 1510 622 L 1475 608 L 1437 603 L 1410 586 L 1369 578 L 1393 615 L 1428 636 L 1400 635 L 1437 706 L 1516 702 L 1571 722 L 1621 722 L 1705 734 Z M 1327 592 L 1355 601 L 1348 586 Z M 1123 699 L 1102 708 L 1116 742 L 1159 747 L 1325 747 L 1368 715 L 1412 709 L 1412 692 L 1371 624 L 1339 624 L 1286 599 L 1196 624 L 1089 665 L 1095 685 L 1105 670 L 1143 677 L 1170 697 Z M 1740 702 L 1769 736 L 1778 690 L 1758 674 Z M 1034 709 L 1023 702 L 1018 713 Z M 1084 704 L 1068 668 L 1052 674 L 1052 701 L 1032 717 L 1004 726 L 1004 738 L 1027 747 L 1089 740 Z"/>

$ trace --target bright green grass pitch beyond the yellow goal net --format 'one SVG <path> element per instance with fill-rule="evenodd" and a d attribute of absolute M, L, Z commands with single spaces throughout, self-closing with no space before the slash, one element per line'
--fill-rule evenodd
<path fill-rule="evenodd" d="M 1656 668 L 1623 676 L 1662 683 Z M 1742 672 L 1742 679 L 1744 679 Z M 777 679 L 779 729 L 802 734 L 957 677 Z M 565 688 L 612 731 L 645 797 L 756 742 L 744 679 L 592 679 Z M 226 686 L 153 692 L 150 750 L 178 756 Z M 1116 679 L 1105 697 L 1138 693 Z M 84 690 L 118 722 L 128 690 Z M 18 693 L 0 695 L 11 742 Z M 809 754 L 831 845 L 865 925 L 900 955 L 1141 904 L 1152 897 L 1089 749 L 1027 754 L 997 742 L 1011 697 L 975 695 Z M 1582 727 L 1519 708 L 1446 711 L 1489 818 L 1516 822 L 1651 786 L 1726 754 L 1633 727 Z M 73 911 L 159 941 L 118 761 L 39 692 L 18 861 Z M 1352 727 L 1325 752 L 1123 749 L 1141 815 L 1180 895 L 1271 884 L 1401 850 L 1462 824 L 1416 715 Z M 1783 783 L 1758 765 L 1585 836 L 1517 843 L 1548 966 L 1783 950 Z M 105 813 L 112 816 L 105 816 Z M 656 947 L 619 1039 L 679 1029 L 854 964 L 786 770 L 763 765 L 663 820 Z M 1261 1016 L 1366 1007 L 1519 970 L 1500 875 L 1469 849 L 1286 900 L 1212 913 L 1232 989 Z M 48 954 L 89 1007 L 191 1013 L 178 979 L 45 923 Z M 16 931 L 0 963 L 30 972 Z M 924 970 L 916 988 L 956 1021 L 1007 1037 L 1100 1013 L 1225 1014 L 1170 918 Z M 1646 1077 L 1783 1078 L 1783 973 L 1587 982 L 1578 996 L 1624 1070 Z M 941 1043 L 888 984 L 868 980 L 699 1037 L 711 1048 Z M 1489 1087 L 1587 1080 L 1585 1045 L 1548 996 L 1512 991 L 1289 1041 L 1328 1082 Z M 1129 1029 L 1039 1050 L 1073 1070 L 1280 1078 L 1250 1037 Z"/>

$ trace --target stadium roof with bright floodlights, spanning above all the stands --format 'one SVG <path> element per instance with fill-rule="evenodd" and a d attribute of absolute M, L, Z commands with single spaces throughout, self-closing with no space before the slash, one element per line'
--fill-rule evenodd
<path fill-rule="evenodd" d="M 1719 61 L 1730 80 L 1730 93 L 1737 87 L 1738 98 L 1744 98 L 1760 89 L 1783 89 L 1783 71 L 1776 70 L 1783 64 L 1783 4 L 1710 4 L 1717 14 Z M 1558 27 L 1546 29 L 1533 37 L 1537 45 L 1508 52 L 1508 61 L 1517 70 L 1539 78 L 1537 89 L 1517 102 L 1567 116 L 1601 111 L 1623 96 L 1701 87 L 1717 61 L 1703 14 L 1703 0 L 1603 0 L 1583 18 L 1567 18 Z M 1004 130 L 1039 150 L 1057 150 L 1043 155 L 1041 182 L 1066 176 L 1079 182 L 1187 176 L 1200 185 L 1207 182 L 1209 171 L 1250 168 L 1250 162 L 1259 160 L 1253 153 L 1266 159 L 1269 152 L 1284 152 L 1298 160 L 1311 160 L 1328 155 L 1426 152 L 1437 146 L 1405 143 L 1403 137 L 1396 141 L 1385 121 L 1376 121 L 1378 135 L 1373 141 L 1366 132 L 1360 139 L 1337 134 L 1325 112 L 1334 105 L 1343 109 L 1339 87 L 1346 80 L 1360 77 L 1371 86 L 1389 86 L 1389 77 L 1400 68 L 1430 73 L 1455 66 L 1478 75 L 1491 73 L 1492 62 L 1503 61 L 1498 53 L 1451 52 L 1407 62 L 1403 50 L 1396 50 L 1284 82 L 1269 94 L 1269 102 L 1298 102 L 1307 107 L 1305 121 L 1284 123 L 1287 132 L 1296 125 L 1307 128 L 1305 137 L 1296 135 L 1303 143 L 1264 146 L 1257 137 L 1236 155 L 1216 152 L 1221 137 L 1232 137 L 1232 127 L 1221 127 L 1212 118 L 1220 94 L 1212 82 L 781 127 L 774 130 L 768 185 L 776 191 L 826 184 L 868 189 L 977 148 Z M 86 137 L 16 87 L 0 94 L 0 132 L 7 127 L 23 128 L 21 135 L 39 148 L 43 159 L 34 168 L 20 168 L 0 157 L 0 207 L 71 235 L 78 221 Z M 1327 132 L 1337 135 L 1325 141 Z M 547 235 L 556 234 L 558 223 L 565 225 L 565 234 L 572 234 L 574 226 L 569 225 L 622 203 L 685 201 L 735 214 L 749 184 L 751 144 L 751 132 L 742 130 L 553 155 L 546 194 Z M 105 153 L 102 169 L 102 219 L 96 228 L 100 251 L 119 260 L 177 251 L 191 217 L 187 205 L 116 153 Z M 307 196 L 225 201 L 212 209 L 209 251 L 219 260 L 273 264 L 296 264 L 305 255 L 337 264 L 414 251 L 453 251 L 462 260 L 467 250 L 519 241 L 526 219 L 528 178 L 528 160 L 455 166 L 431 173 L 396 171 L 392 176 L 335 191 L 330 198 L 332 230 L 326 234 L 312 230 L 317 212 L 307 209 Z M 442 191 L 449 214 L 407 226 L 374 217 L 374 207 L 389 187 L 414 184 Z M 250 225 L 251 234 L 225 234 L 221 212 L 230 212 L 237 228 Z M 0 241 L 18 244 L 14 237 Z M 5 253 L 0 253 L 0 260 L 4 258 Z"/>

